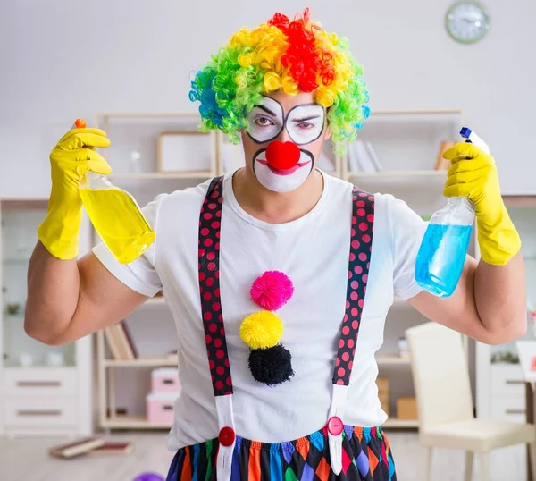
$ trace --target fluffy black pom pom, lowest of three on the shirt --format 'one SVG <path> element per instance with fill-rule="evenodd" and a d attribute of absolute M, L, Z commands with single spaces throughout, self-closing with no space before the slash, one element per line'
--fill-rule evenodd
<path fill-rule="evenodd" d="M 249 353 L 249 370 L 259 383 L 273 386 L 289 381 L 294 376 L 289 350 L 282 344 L 269 349 L 252 349 Z"/>

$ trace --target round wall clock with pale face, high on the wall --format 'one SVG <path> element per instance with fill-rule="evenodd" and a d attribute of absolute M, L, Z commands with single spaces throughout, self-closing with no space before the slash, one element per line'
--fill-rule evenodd
<path fill-rule="evenodd" d="M 448 9 L 445 26 L 457 42 L 473 44 L 490 30 L 490 15 L 480 2 L 460 0 Z"/>

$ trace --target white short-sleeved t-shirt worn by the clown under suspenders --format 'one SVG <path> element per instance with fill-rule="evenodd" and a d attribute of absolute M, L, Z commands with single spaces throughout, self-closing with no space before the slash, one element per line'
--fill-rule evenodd
<path fill-rule="evenodd" d="M 316 206 L 286 224 L 268 224 L 248 215 L 223 183 L 220 287 L 227 334 L 237 434 L 264 443 L 309 435 L 325 426 L 331 377 L 345 314 L 352 184 L 323 174 Z M 217 437 L 214 392 L 206 358 L 197 273 L 198 221 L 210 181 L 163 194 L 144 208 L 156 239 L 130 265 L 119 264 L 103 244 L 96 257 L 122 283 L 153 296 L 163 289 L 177 325 L 182 391 L 168 438 L 172 451 Z M 414 266 L 425 229 L 401 200 L 375 195 L 373 251 L 356 357 L 343 421 L 379 426 L 387 419 L 375 384 L 374 353 L 383 342 L 385 316 L 397 293 L 404 299 L 421 289 Z M 268 270 L 287 274 L 295 286 L 277 311 L 284 325 L 281 343 L 292 355 L 289 381 L 268 387 L 249 372 L 249 348 L 239 337 L 242 320 L 259 310 L 251 284 Z"/>

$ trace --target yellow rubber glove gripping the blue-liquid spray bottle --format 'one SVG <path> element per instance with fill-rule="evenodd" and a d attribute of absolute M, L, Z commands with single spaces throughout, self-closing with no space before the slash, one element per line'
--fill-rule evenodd
<path fill-rule="evenodd" d="M 452 161 L 443 194 L 473 202 L 482 259 L 504 266 L 521 249 L 521 239 L 500 194 L 493 157 L 469 142 L 449 148 L 443 157 Z"/>

